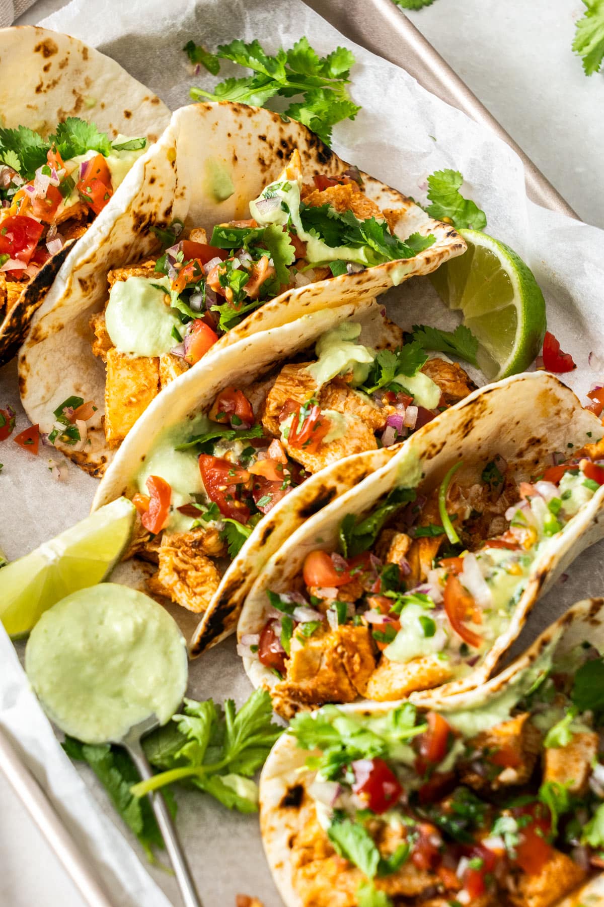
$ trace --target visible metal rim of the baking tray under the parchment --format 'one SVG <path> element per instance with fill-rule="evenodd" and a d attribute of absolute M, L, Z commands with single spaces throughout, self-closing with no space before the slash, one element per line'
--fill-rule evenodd
<path fill-rule="evenodd" d="M 543 208 L 579 219 L 551 182 L 505 132 L 434 47 L 392 0 L 304 0 L 351 41 L 407 70 L 427 91 L 491 129 L 523 161 L 526 188 Z M 101 881 L 55 812 L 50 799 L 0 729 L 0 771 L 4 772 L 34 823 L 90 907 L 112 907 Z"/>

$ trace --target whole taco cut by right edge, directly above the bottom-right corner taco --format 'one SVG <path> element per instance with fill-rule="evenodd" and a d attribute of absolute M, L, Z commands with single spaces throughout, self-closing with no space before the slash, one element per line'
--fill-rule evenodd
<path fill-rule="evenodd" d="M 538 596 L 602 535 L 601 435 L 544 372 L 425 425 L 264 567 L 237 628 L 254 685 L 290 717 L 484 683 Z"/>

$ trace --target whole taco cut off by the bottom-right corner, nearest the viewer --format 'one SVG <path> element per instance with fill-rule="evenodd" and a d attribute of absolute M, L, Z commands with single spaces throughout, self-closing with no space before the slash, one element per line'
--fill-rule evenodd
<path fill-rule="evenodd" d="M 297 715 L 260 780 L 287 907 L 604 901 L 604 600 L 482 688 Z"/>

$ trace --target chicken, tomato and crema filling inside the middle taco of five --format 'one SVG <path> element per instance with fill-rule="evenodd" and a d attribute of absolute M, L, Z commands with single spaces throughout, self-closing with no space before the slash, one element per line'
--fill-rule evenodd
<path fill-rule="evenodd" d="M 109 307 L 107 317 L 109 326 Z M 363 324 L 340 322 L 269 375 L 225 386 L 207 411 L 158 434 L 132 499 L 142 523 L 134 553 L 158 560 L 152 590 L 206 610 L 227 558 L 292 487 L 351 453 L 396 444 L 472 389 L 460 366 L 405 344 L 378 307 L 365 329 L 392 348 L 363 344 Z M 129 336 L 127 322 L 120 330 Z M 146 336 L 155 342 L 158 333 L 149 317 Z"/>

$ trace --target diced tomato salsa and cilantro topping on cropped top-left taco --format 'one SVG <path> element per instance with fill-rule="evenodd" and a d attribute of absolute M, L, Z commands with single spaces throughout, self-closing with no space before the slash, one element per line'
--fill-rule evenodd
<path fill-rule="evenodd" d="M 68 240 L 78 239 L 146 145 L 145 138 L 122 135 L 110 141 L 77 117 L 59 123 L 48 138 L 24 126 L 0 129 L 0 274 L 5 281 L 23 286 Z"/>

